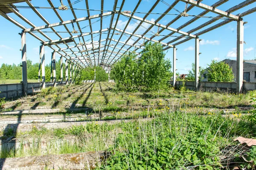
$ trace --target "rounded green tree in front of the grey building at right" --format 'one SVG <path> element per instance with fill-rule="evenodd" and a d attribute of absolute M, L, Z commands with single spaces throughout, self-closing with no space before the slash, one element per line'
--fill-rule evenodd
<path fill-rule="evenodd" d="M 212 60 L 212 63 L 209 65 L 207 79 L 209 82 L 233 82 L 234 74 L 232 67 L 225 62 Z"/>

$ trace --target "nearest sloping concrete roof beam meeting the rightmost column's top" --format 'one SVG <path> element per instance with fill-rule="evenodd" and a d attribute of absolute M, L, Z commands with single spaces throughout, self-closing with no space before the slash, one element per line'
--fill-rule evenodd
<path fill-rule="evenodd" d="M 184 3 L 189 3 L 191 5 L 194 5 L 194 6 L 197 6 L 199 8 L 202 8 L 202 9 L 205 9 L 207 11 L 211 11 L 215 14 L 219 14 L 223 17 L 228 17 L 228 18 L 231 18 L 231 19 L 234 19 L 234 20 L 240 20 L 240 17 L 236 16 L 236 15 L 233 15 L 233 14 L 230 14 L 228 12 L 225 12 L 225 11 L 222 11 L 220 9 L 217 9 L 217 8 L 213 8 L 212 6 L 208 6 L 208 5 L 205 5 L 204 3 L 200 3 L 200 2 L 197 2 L 195 0 L 180 0 Z"/>

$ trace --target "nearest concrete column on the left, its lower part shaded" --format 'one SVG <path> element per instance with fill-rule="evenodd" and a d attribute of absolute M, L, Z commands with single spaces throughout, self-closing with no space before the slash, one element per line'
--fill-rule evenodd
<path fill-rule="evenodd" d="M 26 61 L 26 33 L 21 32 L 21 59 L 22 59 L 22 94 L 27 94 L 28 76 L 27 76 L 27 61 Z"/>

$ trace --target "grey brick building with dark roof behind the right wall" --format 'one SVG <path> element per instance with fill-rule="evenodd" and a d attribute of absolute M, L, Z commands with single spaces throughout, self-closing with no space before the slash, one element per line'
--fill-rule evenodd
<path fill-rule="evenodd" d="M 236 82 L 236 60 L 234 59 L 224 59 L 221 62 L 227 63 L 230 67 L 232 67 L 232 71 L 234 74 L 234 82 Z M 207 73 L 209 68 L 206 68 L 201 74 L 202 82 L 207 82 Z M 244 60 L 244 71 L 243 71 L 243 79 L 245 82 L 256 82 L 256 60 Z"/>

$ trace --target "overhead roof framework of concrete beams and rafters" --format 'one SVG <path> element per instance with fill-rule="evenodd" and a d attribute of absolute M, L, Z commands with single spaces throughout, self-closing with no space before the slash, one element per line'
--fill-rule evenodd
<path fill-rule="evenodd" d="M 65 3 L 67 3 L 66 5 L 68 6 L 67 10 L 72 12 L 73 16 L 71 18 L 73 18 L 73 20 L 63 20 L 61 14 L 58 12 L 60 11 L 58 6 L 54 5 L 56 4 L 55 0 L 42 1 L 47 1 L 50 6 L 48 7 L 48 10 L 53 10 L 55 15 L 58 17 L 59 22 L 49 23 L 46 20 L 46 17 L 44 17 L 43 14 L 38 11 L 38 8 L 32 5 L 33 0 L 1 0 L 0 15 L 14 23 L 16 26 L 20 27 L 24 34 L 31 34 L 43 45 L 49 46 L 49 48 L 52 48 L 54 52 L 60 54 L 62 57 L 65 57 L 75 65 L 78 65 L 80 68 L 101 65 L 104 67 L 107 66 L 109 69 L 116 61 L 118 61 L 118 59 L 120 59 L 120 57 L 122 57 L 125 52 L 128 51 L 134 52 L 138 55 L 138 57 L 140 57 L 140 52 L 144 49 L 143 45 L 147 42 L 160 42 L 165 50 L 168 50 L 169 48 L 175 48 L 176 54 L 177 45 L 191 39 L 198 39 L 198 36 L 232 21 L 239 22 L 242 20 L 242 17 L 256 11 L 256 8 L 252 8 L 248 11 L 244 11 L 241 14 L 232 14 L 233 12 L 244 8 L 245 6 L 256 2 L 256 0 L 244 0 L 243 2 L 238 1 L 240 2 L 239 4 L 227 9 L 226 11 L 222 11 L 218 9 L 218 7 L 226 3 L 228 0 L 218 0 L 211 6 L 204 4 L 202 2 L 203 0 L 172 0 L 171 2 L 173 3 L 169 5 L 169 7 L 163 11 L 163 13 L 158 14 L 159 17 L 156 20 L 152 21 L 148 20 L 149 15 L 153 13 L 154 9 L 157 8 L 161 0 L 155 0 L 155 3 L 151 6 L 149 11 L 137 11 L 141 5 L 142 0 L 136 1 L 137 4 L 133 11 L 130 11 L 131 9 L 125 6 L 125 0 L 114 0 L 113 9 L 109 11 L 103 8 L 104 3 L 107 3 L 107 0 L 101 0 L 101 4 L 98 10 L 91 9 L 89 7 L 88 0 L 83 0 L 79 3 L 85 3 L 86 9 L 84 9 L 84 14 L 87 14 L 87 16 L 78 18 L 76 13 L 77 9 L 73 8 L 74 0 L 65 0 Z M 33 12 L 31 15 L 37 15 L 45 23 L 45 25 L 36 26 L 18 11 L 18 7 L 24 6 L 24 3 L 26 7 L 32 9 Z M 161 21 L 164 17 L 166 20 L 166 16 L 172 14 L 170 11 L 175 9 L 175 6 L 177 6 L 178 3 L 183 4 L 184 10 L 178 12 L 176 17 L 172 20 L 169 20 L 166 25 L 160 24 L 163 23 Z M 117 7 L 117 4 L 120 6 Z M 195 7 L 203 9 L 204 11 L 200 14 L 189 15 L 189 11 Z M 98 14 L 90 15 L 90 11 L 93 10 L 94 12 L 98 11 Z M 65 11 L 66 10 L 63 12 Z M 14 13 L 17 15 L 17 17 L 29 25 L 30 28 L 26 28 L 14 20 L 9 16 L 9 13 Z M 190 31 L 181 31 L 181 29 L 189 26 L 196 20 L 199 20 L 201 17 L 207 17 L 206 14 L 208 13 L 213 15 L 212 17 L 208 17 L 209 21 L 191 29 Z M 136 16 L 137 14 L 140 16 L 144 14 L 144 17 L 138 17 Z M 106 20 L 107 17 L 110 18 L 108 28 L 103 28 L 105 27 L 103 26 L 103 21 Z M 120 29 L 118 26 L 121 17 L 127 18 L 127 23 L 122 29 Z M 182 17 L 192 17 L 192 19 L 178 28 L 172 28 L 171 25 Z M 224 19 L 223 22 L 217 23 L 209 28 L 202 30 L 210 24 L 213 24 L 222 19 Z M 93 23 L 95 23 L 93 22 L 94 20 L 99 22 L 97 27 L 93 27 Z M 131 22 L 134 24 L 137 23 L 137 26 L 132 32 L 129 32 L 127 30 Z M 82 31 L 83 28 L 81 28 L 81 26 L 84 26 L 85 23 L 89 23 L 89 32 Z M 145 24 L 147 24 L 147 27 L 143 26 Z M 71 25 L 73 30 L 70 31 Z M 65 34 L 68 34 L 69 37 L 62 37 L 61 32 L 56 31 L 58 28 L 63 29 L 63 27 L 64 30 L 66 30 Z M 144 28 L 145 31 L 142 34 L 138 34 L 138 30 L 141 28 Z M 157 31 L 155 31 L 156 28 Z M 198 30 L 201 31 L 196 32 Z M 148 35 L 148 32 L 152 32 L 154 34 Z M 40 36 L 38 34 L 40 34 Z M 103 34 L 106 34 L 106 36 L 103 36 Z M 58 39 L 56 39 L 56 36 Z M 123 36 L 128 38 L 125 41 L 122 41 L 121 39 Z M 175 38 L 170 40 L 169 37 Z M 61 45 L 65 45 L 65 47 Z"/>

